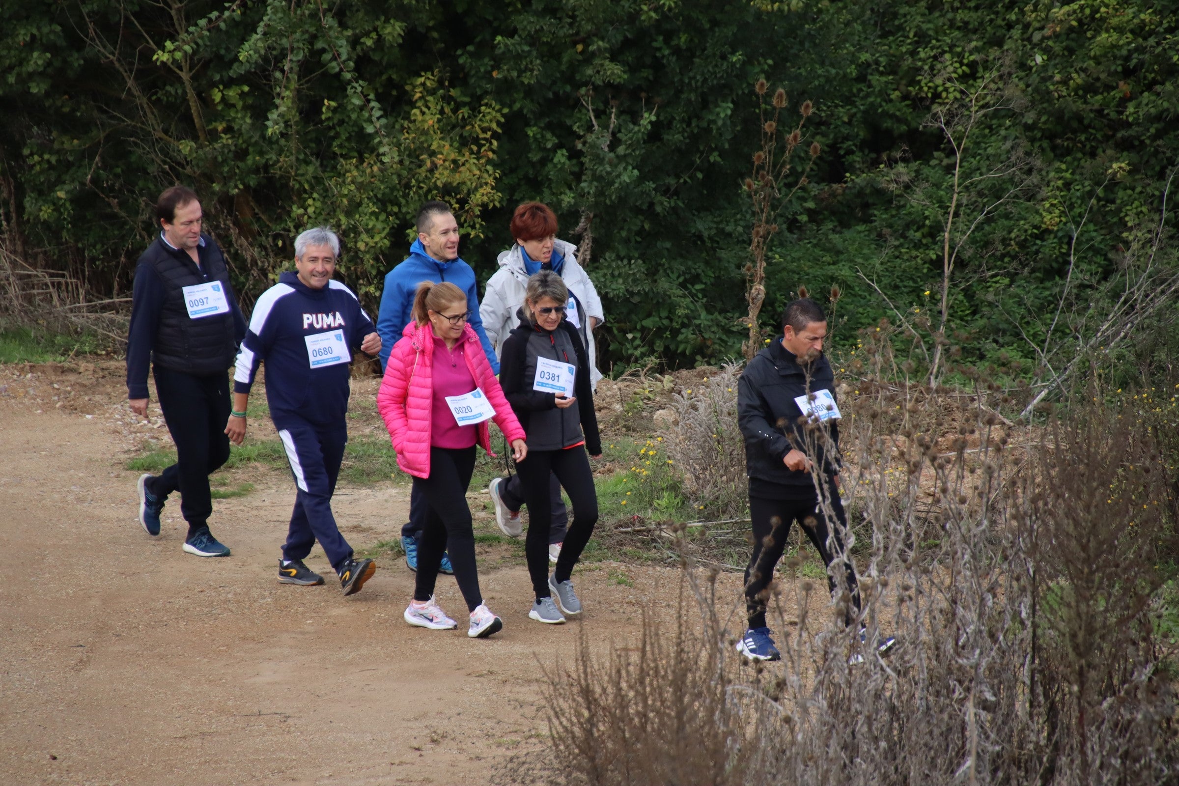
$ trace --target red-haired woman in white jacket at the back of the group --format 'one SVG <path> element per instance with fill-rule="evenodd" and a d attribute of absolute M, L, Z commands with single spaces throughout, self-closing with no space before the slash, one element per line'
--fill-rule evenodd
<path fill-rule="evenodd" d="M 487 338 L 495 348 L 495 357 L 503 355 L 503 342 L 516 328 L 523 315 L 525 290 L 528 278 L 541 270 L 552 270 L 569 290 L 565 318 L 575 328 L 590 362 L 590 382 L 597 388 L 601 372 L 597 366 L 594 329 L 605 322 L 601 298 L 594 289 L 590 276 L 578 264 L 578 247 L 572 243 L 558 239 L 556 214 L 540 202 L 526 202 L 512 214 L 512 237 L 515 245 L 499 257 L 500 269 L 487 282 L 487 291 L 479 306 L 479 316 L 483 321 Z M 549 531 L 548 559 L 556 562 L 565 541 L 569 515 L 561 501 L 560 486 L 555 477 L 551 478 L 553 501 L 552 529 Z M 505 535 L 519 537 L 522 531 L 520 507 L 523 504 L 523 491 L 518 476 L 511 480 L 496 477 L 488 491 L 495 504 L 495 522 Z"/>

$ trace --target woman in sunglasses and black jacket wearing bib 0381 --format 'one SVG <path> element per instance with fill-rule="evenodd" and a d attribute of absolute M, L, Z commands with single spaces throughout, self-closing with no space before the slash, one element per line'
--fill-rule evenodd
<path fill-rule="evenodd" d="M 528 616 L 549 625 L 565 622 L 562 613 L 581 613 L 569 576 L 598 522 L 598 494 L 586 453 L 601 456 L 601 438 L 590 359 L 577 329 L 565 318 L 568 298 L 568 288 L 555 272 L 542 270 L 532 276 L 520 324 L 503 342 L 500 356 L 503 394 L 527 434 L 527 457 L 516 460 L 516 473 L 529 511 L 525 554 L 535 600 Z M 552 574 L 551 474 L 573 506 L 573 523 Z"/>

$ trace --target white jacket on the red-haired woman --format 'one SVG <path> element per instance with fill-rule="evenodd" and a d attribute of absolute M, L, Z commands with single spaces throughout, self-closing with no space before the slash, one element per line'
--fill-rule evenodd
<path fill-rule="evenodd" d="M 590 382 L 597 388 L 598 381 L 601 379 L 601 372 L 598 370 L 597 348 L 588 318 L 597 317 L 601 323 L 606 322 L 606 317 L 601 312 L 601 298 L 598 297 L 598 290 L 594 289 L 585 269 L 578 264 L 574 256 L 577 250 L 578 247 L 567 240 L 553 243 L 553 251 L 565 257 L 565 263 L 561 265 L 561 279 L 581 302 L 581 309 L 585 311 L 579 317 L 586 326 L 585 336 L 592 368 Z M 503 342 L 512 329 L 520 324 L 516 319 L 516 311 L 523 306 L 525 288 L 528 285 L 528 271 L 523 266 L 519 244 L 500 253 L 499 263 L 500 269 L 487 280 L 487 291 L 483 292 L 483 298 L 479 303 L 479 316 L 483 319 L 487 338 L 495 348 L 495 357 L 502 355 Z"/>

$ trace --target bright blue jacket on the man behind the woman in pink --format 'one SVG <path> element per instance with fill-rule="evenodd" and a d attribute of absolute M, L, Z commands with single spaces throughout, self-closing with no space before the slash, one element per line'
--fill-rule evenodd
<path fill-rule="evenodd" d="M 495 349 L 487 338 L 483 321 L 479 316 L 479 286 L 475 283 L 475 271 L 462 259 L 439 262 L 426 253 L 421 240 L 414 240 L 409 246 L 409 257 L 384 277 L 381 310 L 376 316 L 376 331 L 381 333 L 381 368 L 384 369 L 389 362 L 393 345 L 401 341 L 401 332 L 411 321 L 414 291 L 422 282 L 450 282 L 467 293 L 467 310 L 470 312 L 467 322 L 479 336 L 487 362 L 492 364 L 492 371 L 499 374 L 500 362 L 495 358 Z"/>

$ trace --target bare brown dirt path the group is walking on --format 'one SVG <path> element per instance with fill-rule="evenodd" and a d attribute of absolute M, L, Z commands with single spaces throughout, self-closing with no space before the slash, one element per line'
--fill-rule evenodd
<path fill-rule="evenodd" d="M 502 633 L 409 628 L 403 563 L 349 599 L 276 582 L 294 502 L 281 478 L 215 502 L 233 555 L 202 560 L 180 551 L 178 504 L 159 537 L 139 527 L 121 422 L 37 409 L 0 399 L 2 784 L 488 782 L 545 732 L 538 661 L 567 660 L 581 626 L 627 638 L 676 581 L 585 570 L 585 619 L 548 627 L 527 620 L 526 570 L 493 570 Z M 382 484 L 341 489 L 336 511 L 361 548 L 396 537 L 407 507 Z M 309 564 L 330 573 L 318 548 Z M 439 595 L 460 616 L 453 580 Z"/>

